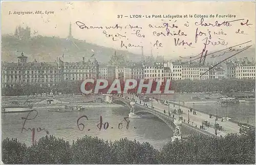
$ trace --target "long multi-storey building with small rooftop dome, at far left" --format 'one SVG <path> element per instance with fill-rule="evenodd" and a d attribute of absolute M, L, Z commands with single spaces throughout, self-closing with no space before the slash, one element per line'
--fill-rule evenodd
<path fill-rule="evenodd" d="M 56 85 L 62 79 L 61 62 L 33 62 L 27 61 L 23 53 L 18 57 L 18 62 L 2 63 L 2 86 L 25 85 L 28 83 Z"/>

